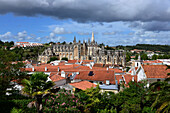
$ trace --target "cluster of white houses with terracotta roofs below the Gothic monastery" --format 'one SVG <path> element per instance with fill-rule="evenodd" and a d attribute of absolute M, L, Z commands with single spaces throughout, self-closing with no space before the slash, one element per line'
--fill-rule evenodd
<path fill-rule="evenodd" d="M 162 61 L 140 61 L 132 63 L 128 72 L 123 67 L 111 64 L 98 64 L 93 60 L 52 61 L 49 64 L 31 64 L 25 62 L 22 71 L 28 74 L 44 72 L 49 80 L 55 83 L 54 89 L 85 90 L 99 84 L 101 92 L 112 91 L 118 93 L 120 84 L 128 87 L 130 81 L 147 81 L 147 86 L 155 81 L 168 78 L 170 69 Z M 22 86 L 19 87 L 20 90 Z"/>

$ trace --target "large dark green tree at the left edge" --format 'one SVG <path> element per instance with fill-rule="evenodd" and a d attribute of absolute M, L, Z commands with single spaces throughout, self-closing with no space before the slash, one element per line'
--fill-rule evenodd
<path fill-rule="evenodd" d="M 7 88 L 12 88 L 12 80 L 21 80 L 26 73 L 21 72 L 20 68 L 24 66 L 22 62 L 17 61 L 17 54 L 11 51 L 0 50 L 0 95 L 5 96 Z"/>

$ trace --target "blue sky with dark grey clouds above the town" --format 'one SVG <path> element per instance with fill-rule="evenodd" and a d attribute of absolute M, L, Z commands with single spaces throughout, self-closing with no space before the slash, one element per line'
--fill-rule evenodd
<path fill-rule="evenodd" d="M 170 0 L 0 0 L 0 40 L 170 45 Z"/>

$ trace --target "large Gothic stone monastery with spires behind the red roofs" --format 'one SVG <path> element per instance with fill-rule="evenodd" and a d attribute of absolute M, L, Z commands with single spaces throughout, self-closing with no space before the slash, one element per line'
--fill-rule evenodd
<path fill-rule="evenodd" d="M 106 50 L 99 47 L 94 40 L 92 33 L 91 41 L 88 42 L 76 41 L 74 37 L 72 44 L 56 44 L 51 48 L 47 48 L 41 55 L 38 56 L 38 61 L 47 63 L 52 56 L 57 56 L 60 60 L 67 57 L 68 60 L 94 60 L 95 63 L 116 64 L 125 66 L 125 51 L 124 50 Z"/>

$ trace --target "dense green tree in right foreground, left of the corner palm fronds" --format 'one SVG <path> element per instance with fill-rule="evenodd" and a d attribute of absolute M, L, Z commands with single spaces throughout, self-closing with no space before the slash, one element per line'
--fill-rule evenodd
<path fill-rule="evenodd" d="M 124 86 L 124 84 L 122 85 Z M 116 95 L 115 107 L 117 112 L 142 112 L 144 104 L 146 103 L 146 94 L 147 90 L 145 89 L 145 82 L 129 82 L 128 87 L 124 87 L 124 90 Z"/>

